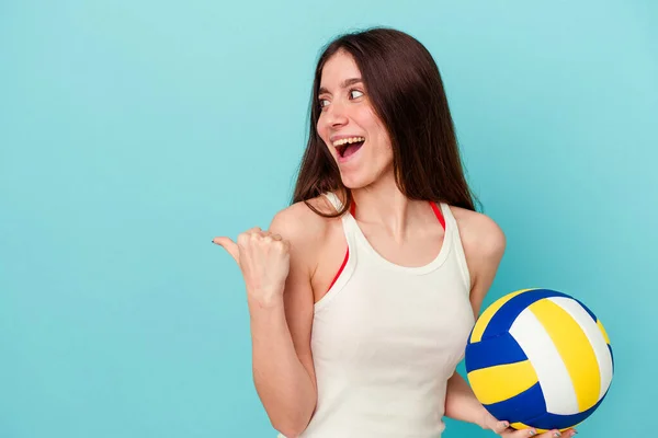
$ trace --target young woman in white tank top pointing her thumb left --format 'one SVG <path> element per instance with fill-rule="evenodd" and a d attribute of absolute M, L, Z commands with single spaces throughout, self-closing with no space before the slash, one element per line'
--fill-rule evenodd
<path fill-rule="evenodd" d="M 411 36 L 327 46 L 292 206 L 214 242 L 245 277 L 253 379 L 281 437 L 435 438 L 443 416 L 535 435 L 455 372 L 506 240 L 475 209 L 439 69 Z"/>

